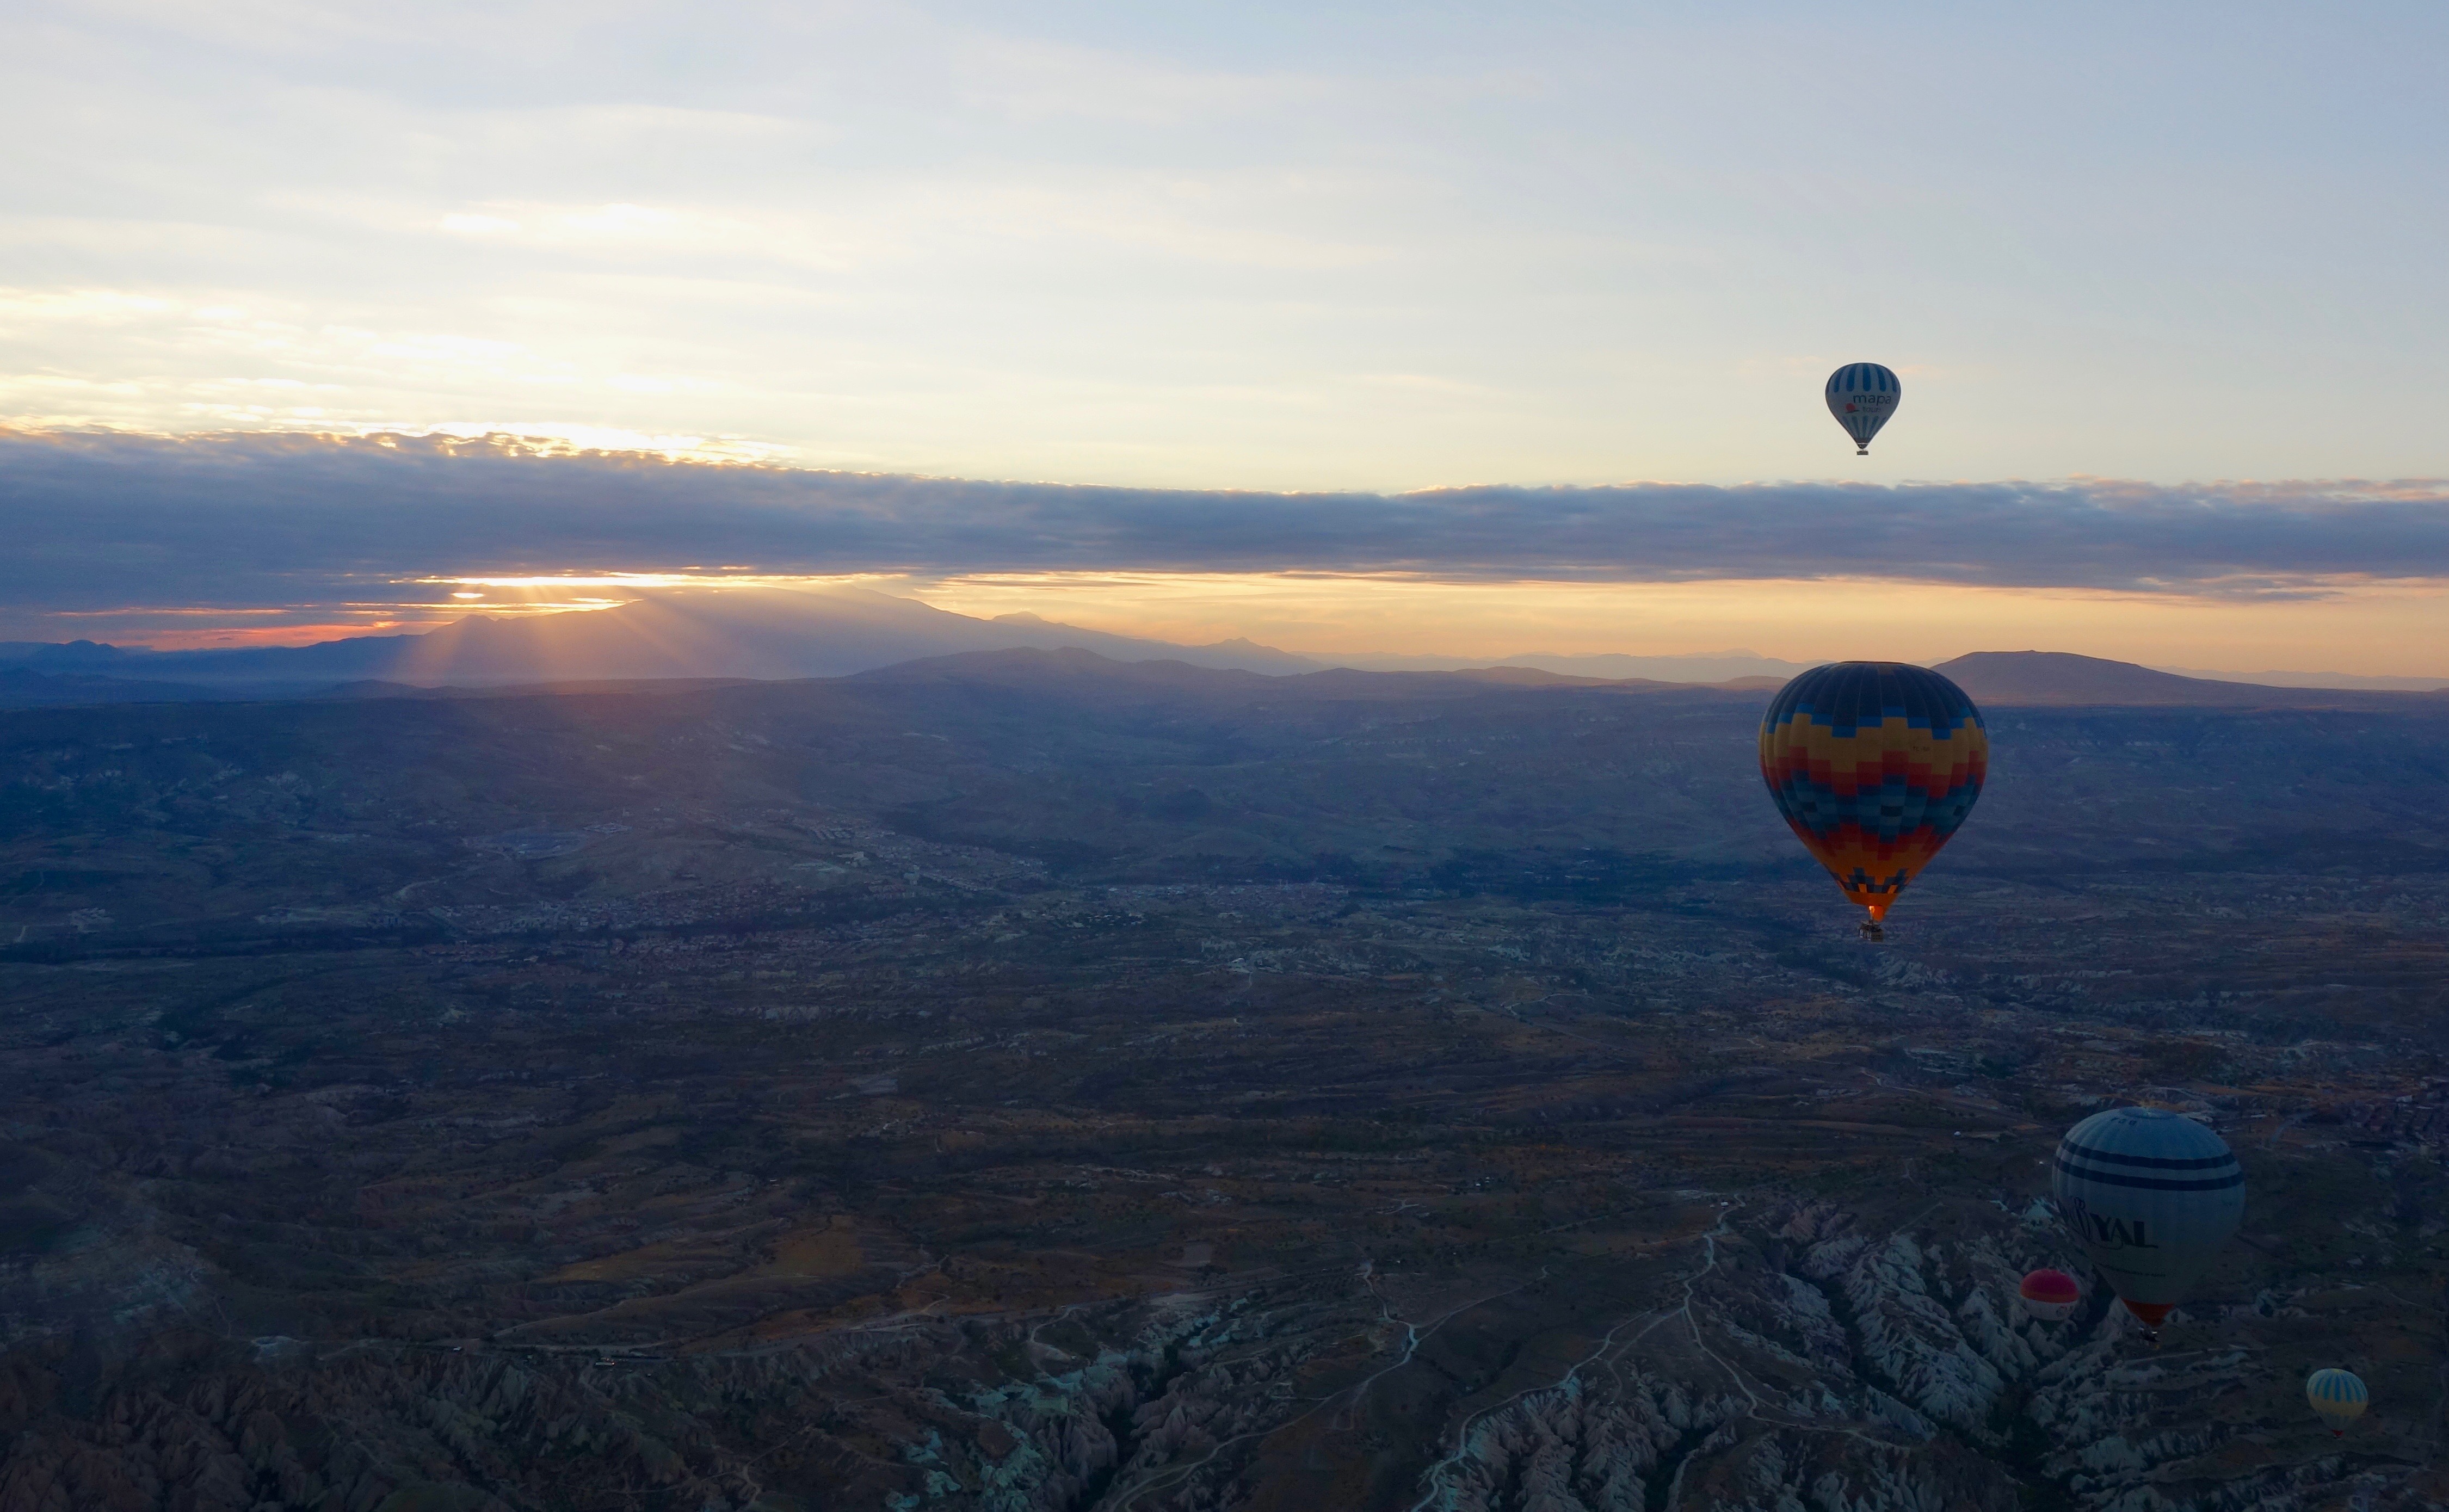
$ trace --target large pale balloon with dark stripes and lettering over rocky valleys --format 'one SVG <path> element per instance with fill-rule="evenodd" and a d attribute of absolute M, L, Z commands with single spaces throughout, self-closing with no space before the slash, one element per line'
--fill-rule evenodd
<path fill-rule="evenodd" d="M 2246 1213 L 2246 1174 L 2229 1142 L 2162 1108 L 2111 1108 L 2067 1130 L 2050 1189 L 2153 1343 Z"/>

